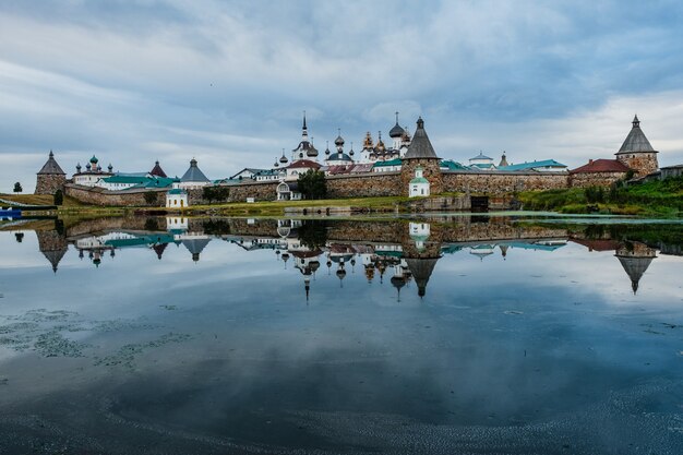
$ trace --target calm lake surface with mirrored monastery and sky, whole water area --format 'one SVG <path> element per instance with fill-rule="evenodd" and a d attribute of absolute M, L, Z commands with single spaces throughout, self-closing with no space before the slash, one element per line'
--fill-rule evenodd
<path fill-rule="evenodd" d="M 575 221 L 0 226 L 0 453 L 682 453 L 683 228 Z"/>

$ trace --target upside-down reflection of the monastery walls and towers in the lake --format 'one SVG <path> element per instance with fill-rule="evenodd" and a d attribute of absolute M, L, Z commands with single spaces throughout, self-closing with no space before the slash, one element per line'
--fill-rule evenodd
<path fill-rule="evenodd" d="M 502 228 L 479 220 L 472 226 L 477 225 L 480 231 L 467 231 L 467 235 L 450 231 L 459 225 L 427 221 L 382 225 L 351 220 L 324 225 L 321 221 L 292 219 L 197 220 L 168 217 L 154 219 L 152 225 L 148 223 L 145 227 L 155 230 L 95 229 L 99 234 L 69 236 L 58 221 L 55 229 L 37 230 L 36 234 L 39 250 L 55 273 L 70 243 L 81 260 L 87 258 L 96 267 L 100 267 L 105 260 L 115 260 L 118 250 L 131 248 L 149 250 L 161 260 L 169 246 L 176 246 L 187 250 L 188 259 L 194 262 L 201 260 L 203 251 L 213 241 L 229 242 L 244 251 L 269 250 L 274 252 L 274 259 L 281 262 L 283 270 L 301 275 L 307 299 L 314 290 L 315 276 L 321 273 L 335 276 L 340 288 L 349 279 L 364 279 L 369 284 L 388 283 L 395 288 L 397 300 L 402 289 L 412 286 L 417 287 L 419 297 L 424 297 L 432 273 L 444 254 L 468 254 L 476 261 L 474 265 L 477 262 L 505 261 L 515 254 L 515 250 L 550 253 L 564 248 L 568 240 L 589 251 L 613 251 L 635 294 L 650 263 L 657 259 L 657 250 L 640 242 L 570 239 L 566 231 L 563 237 L 563 232 L 558 230 L 520 235 L 505 230 L 507 227 L 503 226 L 503 235 L 511 237 L 517 232 L 518 238 L 495 239 L 492 237 L 500 235 Z M 498 234 L 494 234 L 495 229 Z M 20 241 L 20 236 L 16 238 Z M 675 249 L 672 250 L 675 254 Z"/>

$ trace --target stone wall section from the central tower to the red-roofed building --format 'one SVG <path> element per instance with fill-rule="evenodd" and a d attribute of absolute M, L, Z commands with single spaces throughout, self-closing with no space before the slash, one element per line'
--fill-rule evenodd
<path fill-rule="evenodd" d="M 517 191 L 567 188 L 564 172 L 443 172 L 443 191 L 460 193 L 503 194 Z"/>

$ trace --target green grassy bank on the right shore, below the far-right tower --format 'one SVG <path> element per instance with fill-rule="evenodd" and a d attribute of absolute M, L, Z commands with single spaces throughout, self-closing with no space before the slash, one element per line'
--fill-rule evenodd
<path fill-rule="evenodd" d="M 571 188 L 518 194 L 524 207 L 560 213 L 604 213 L 680 217 L 683 214 L 683 177 L 611 189 Z"/>

